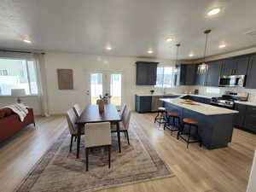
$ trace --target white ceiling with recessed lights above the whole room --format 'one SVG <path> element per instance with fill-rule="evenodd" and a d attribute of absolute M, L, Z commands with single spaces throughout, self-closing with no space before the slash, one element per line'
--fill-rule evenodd
<path fill-rule="evenodd" d="M 209 17 L 214 7 L 222 11 Z M 196 59 L 208 28 L 207 55 L 255 46 L 256 35 L 245 34 L 256 29 L 255 8 L 255 0 L 0 0 L 0 48 L 173 59 L 181 43 L 179 58 Z"/>

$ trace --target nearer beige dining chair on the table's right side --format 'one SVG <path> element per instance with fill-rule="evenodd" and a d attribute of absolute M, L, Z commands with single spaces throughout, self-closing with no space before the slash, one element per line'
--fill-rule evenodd
<path fill-rule="evenodd" d="M 131 119 L 131 110 L 130 108 L 126 107 L 124 110 L 124 114 L 122 116 L 122 122 L 119 123 L 119 131 L 125 132 L 125 137 L 127 138 L 127 142 L 130 145 L 129 141 L 129 133 L 128 129 L 130 126 L 130 119 Z M 117 125 L 111 125 L 111 132 L 117 132 Z"/>

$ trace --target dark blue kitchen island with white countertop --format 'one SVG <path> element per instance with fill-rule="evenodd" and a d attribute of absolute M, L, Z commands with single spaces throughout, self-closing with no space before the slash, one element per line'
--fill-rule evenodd
<path fill-rule="evenodd" d="M 231 142 L 234 116 L 237 111 L 201 102 L 189 103 L 181 98 L 160 100 L 164 102 L 168 112 L 180 113 L 181 119 L 192 118 L 199 122 L 201 141 L 206 148 L 225 148 Z"/>

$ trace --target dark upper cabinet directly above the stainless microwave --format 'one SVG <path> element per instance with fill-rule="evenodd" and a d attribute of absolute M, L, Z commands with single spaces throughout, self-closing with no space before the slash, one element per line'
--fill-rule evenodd
<path fill-rule="evenodd" d="M 222 75 L 246 75 L 248 64 L 248 55 L 225 59 Z"/>

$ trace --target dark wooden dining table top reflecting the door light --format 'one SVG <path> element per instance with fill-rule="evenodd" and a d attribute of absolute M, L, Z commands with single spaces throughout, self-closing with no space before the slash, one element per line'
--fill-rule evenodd
<path fill-rule="evenodd" d="M 84 108 L 76 124 L 99 123 L 121 121 L 118 110 L 115 105 L 104 105 L 104 112 L 99 113 L 98 105 L 88 105 Z"/>

